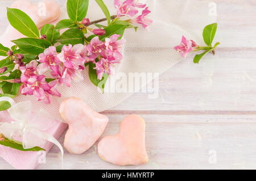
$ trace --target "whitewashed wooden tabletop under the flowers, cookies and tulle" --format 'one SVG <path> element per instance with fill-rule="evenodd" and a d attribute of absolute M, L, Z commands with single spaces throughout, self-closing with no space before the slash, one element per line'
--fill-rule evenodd
<path fill-rule="evenodd" d="M 11 2 L 2 0 L 1 10 Z M 216 56 L 207 55 L 199 65 L 187 58 L 161 75 L 158 99 L 137 93 L 104 112 L 110 119 L 104 135 L 117 133 L 127 114 L 146 120 L 150 161 L 114 166 L 93 146 L 81 155 L 65 151 L 64 169 L 256 169 L 256 1 L 213 2 L 221 42 Z M 63 139 L 64 134 L 61 144 Z M 38 169 L 59 169 L 58 152 L 53 146 Z M 13 167 L 0 158 L 1 169 Z"/>

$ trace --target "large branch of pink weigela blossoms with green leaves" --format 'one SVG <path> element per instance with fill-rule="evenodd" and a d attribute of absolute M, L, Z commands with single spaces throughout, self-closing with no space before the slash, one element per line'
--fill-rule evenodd
<path fill-rule="evenodd" d="M 34 95 L 50 103 L 51 95 L 61 96 L 57 86 L 70 87 L 72 81 L 84 79 L 82 71 L 86 66 L 89 66 L 90 81 L 104 91 L 108 79 L 105 75 L 112 74 L 114 66 L 123 58 L 125 40 L 121 37 L 125 30 L 137 30 L 134 24 L 147 28 L 152 23 L 148 19 L 151 11 L 145 3 L 113 1 L 117 14 L 110 15 L 102 0 L 98 6 L 106 18 L 90 21 L 84 13 L 88 3 L 67 0 L 67 10 L 72 10 L 68 13 L 69 19 L 62 19 L 56 25 L 45 24 L 40 31 L 25 12 L 8 8 L 10 24 L 26 38 L 13 40 L 15 45 L 10 48 L 0 44 L 0 56 L 6 57 L 0 65 L 3 93 Z M 25 20 L 17 22 L 16 19 Z"/>

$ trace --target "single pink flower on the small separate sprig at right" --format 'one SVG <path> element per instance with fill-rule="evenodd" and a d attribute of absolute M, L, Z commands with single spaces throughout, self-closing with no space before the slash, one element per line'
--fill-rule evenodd
<path fill-rule="evenodd" d="M 187 54 L 193 50 L 194 47 L 197 47 L 195 41 L 187 40 L 184 36 L 182 36 L 180 45 L 174 47 L 177 52 L 181 54 L 182 57 L 187 57 Z"/>

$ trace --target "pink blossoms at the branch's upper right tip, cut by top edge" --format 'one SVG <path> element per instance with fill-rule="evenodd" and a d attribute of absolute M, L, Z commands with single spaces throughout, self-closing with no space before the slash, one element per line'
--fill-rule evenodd
<path fill-rule="evenodd" d="M 129 16 L 130 23 L 141 24 L 143 28 L 147 28 L 153 22 L 151 19 L 147 18 L 147 15 L 150 14 L 150 10 L 146 7 L 146 4 L 139 3 L 138 0 L 126 0 L 124 2 L 120 0 L 114 0 L 114 6 L 117 9 L 117 17 Z M 142 14 L 135 17 L 139 13 L 139 9 L 142 10 Z"/>

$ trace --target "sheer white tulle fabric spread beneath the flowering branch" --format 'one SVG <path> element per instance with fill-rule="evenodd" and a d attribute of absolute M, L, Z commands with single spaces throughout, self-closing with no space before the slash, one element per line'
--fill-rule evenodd
<path fill-rule="evenodd" d="M 116 14 L 112 0 L 106 0 L 111 14 Z M 149 31 L 139 28 L 138 32 L 127 30 L 124 38 L 126 44 L 123 48 L 124 58 L 116 68 L 116 73 L 159 73 L 170 69 L 181 56 L 173 47 L 180 43 L 181 36 L 193 39 L 198 44 L 203 44 L 201 33 L 207 24 L 214 22 L 214 17 L 209 16 L 209 1 L 196 0 L 148 0 L 151 18 L 154 23 L 148 28 Z M 64 5 L 63 5 L 64 7 Z M 88 18 L 96 20 L 103 18 L 104 14 L 94 1 L 90 1 Z M 180 70 L 182 71 L 182 70 Z M 111 79 L 111 77 L 110 77 Z M 151 80 L 147 80 L 151 81 Z M 141 85 L 134 85 L 141 87 Z M 38 102 L 34 96 L 20 95 L 15 98 L 16 102 L 30 100 L 34 111 L 43 108 L 61 120 L 59 105 L 62 100 L 70 96 L 76 96 L 84 100 L 93 110 L 98 112 L 117 106 L 123 100 L 129 98 L 132 93 L 109 93 L 102 94 L 97 87 L 92 85 L 88 78 L 88 71 L 84 72 L 84 81 L 73 83 L 71 88 L 61 86 L 59 90 L 61 98 L 52 98 L 51 104 Z"/>

